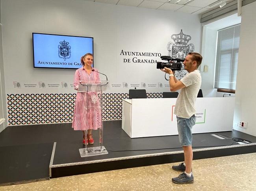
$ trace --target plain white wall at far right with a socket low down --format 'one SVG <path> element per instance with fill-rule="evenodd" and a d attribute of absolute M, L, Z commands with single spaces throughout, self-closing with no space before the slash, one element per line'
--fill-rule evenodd
<path fill-rule="evenodd" d="M 256 136 L 256 2 L 242 7 L 238 71 L 236 81 L 236 105 L 234 129 Z M 248 128 L 237 127 L 239 120 L 244 120 Z"/>

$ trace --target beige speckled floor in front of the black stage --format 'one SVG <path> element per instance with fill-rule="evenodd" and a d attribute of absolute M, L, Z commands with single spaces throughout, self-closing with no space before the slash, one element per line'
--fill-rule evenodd
<path fill-rule="evenodd" d="M 256 153 L 223 156 L 193 161 L 193 184 L 177 185 L 171 166 L 178 163 L 135 167 L 84 175 L 53 178 L 47 181 L 2 186 L 2 191 L 254 191 L 256 190 Z"/>

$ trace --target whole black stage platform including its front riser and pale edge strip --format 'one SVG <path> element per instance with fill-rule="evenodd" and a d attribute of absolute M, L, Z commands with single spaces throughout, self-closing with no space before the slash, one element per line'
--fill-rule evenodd
<path fill-rule="evenodd" d="M 93 132 L 93 147 L 99 146 L 98 134 L 98 130 Z M 105 121 L 103 135 L 108 154 L 81 157 L 82 132 L 74 131 L 70 123 L 7 127 L 0 133 L 0 185 L 184 160 L 177 135 L 130 138 L 121 120 Z M 240 145 L 228 136 L 252 144 Z M 192 146 L 194 160 L 254 153 L 256 137 L 239 131 L 200 133 L 193 134 Z"/>

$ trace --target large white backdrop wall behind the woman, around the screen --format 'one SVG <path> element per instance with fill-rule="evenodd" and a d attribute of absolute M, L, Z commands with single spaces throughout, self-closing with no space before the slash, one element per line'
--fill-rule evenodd
<path fill-rule="evenodd" d="M 140 89 L 142 83 L 147 93 L 169 91 L 168 81 L 155 63 L 124 63 L 124 58 L 134 57 L 160 61 L 158 56 L 126 56 L 122 51 L 167 55 L 171 35 L 181 29 L 191 36 L 189 43 L 195 45 L 195 51 L 200 51 L 199 16 L 171 11 L 84 0 L 2 0 L 2 24 L 6 94 L 11 100 L 17 95 L 75 94 L 75 70 L 33 68 L 32 32 L 93 37 L 94 64 L 108 75 L 108 94 L 127 96 L 128 89 Z M 20 88 L 15 86 L 17 82 Z M 39 82 L 44 82 L 46 88 L 40 88 Z M 67 88 L 63 82 L 67 82 Z M 11 109 L 7 106 L 7 111 Z"/>

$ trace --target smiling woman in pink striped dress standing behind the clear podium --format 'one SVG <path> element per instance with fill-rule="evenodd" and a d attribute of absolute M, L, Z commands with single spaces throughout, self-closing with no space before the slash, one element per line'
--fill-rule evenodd
<path fill-rule="evenodd" d="M 83 67 L 76 70 L 74 89 L 78 90 L 79 81 L 100 81 L 98 70 L 93 68 L 93 55 L 87 53 L 81 58 Z M 91 82 L 93 83 L 93 82 Z M 96 92 L 78 92 L 74 107 L 72 128 L 83 131 L 83 144 L 93 144 L 92 131 L 101 127 L 101 111 L 98 94 Z M 85 130 L 88 134 L 85 136 Z"/>

